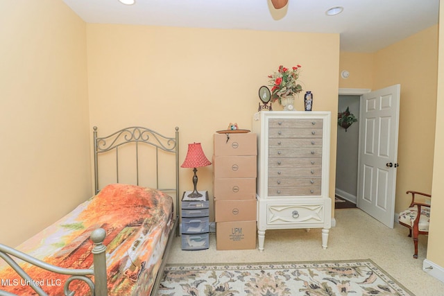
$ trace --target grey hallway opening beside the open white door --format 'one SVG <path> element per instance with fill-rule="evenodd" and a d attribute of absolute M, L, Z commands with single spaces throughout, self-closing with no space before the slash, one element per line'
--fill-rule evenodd
<path fill-rule="evenodd" d="M 338 112 L 349 110 L 356 119 L 359 119 L 361 95 L 339 94 Z M 335 116 L 336 120 L 336 116 Z M 335 209 L 356 207 L 357 203 L 357 175 L 359 157 L 359 121 L 352 123 L 346 130 L 336 125 L 336 186 Z"/>

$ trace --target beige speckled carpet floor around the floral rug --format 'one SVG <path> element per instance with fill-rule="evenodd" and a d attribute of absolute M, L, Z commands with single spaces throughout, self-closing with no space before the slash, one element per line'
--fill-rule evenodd
<path fill-rule="evenodd" d="M 327 250 L 321 247 L 321 229 L 268 230 L 265 250 L 218 251 L 210 234 L 210 249 L 182 251 L 180 237 L 167 263 L 259 263 L 288 261 L 339 261 L 371 259 L 418 296 L 444 295 L 444 283 L 422 271 L 427 236 L 420 236 L 418 259 L 413 259 L 413 240 L 406 227 L 390 229 L 360 209 L 336 209 L 336 227 L 330 230 Z"/>

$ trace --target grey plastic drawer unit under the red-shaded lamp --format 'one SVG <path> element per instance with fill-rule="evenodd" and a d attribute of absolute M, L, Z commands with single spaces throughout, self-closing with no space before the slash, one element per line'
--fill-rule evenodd
<path fill-rule="evenodd" d="M 210 201 L 208 191 L 198 191 L 200 198 L 182 195 L 182 250 L 204 250 L 210 247 Z"/>

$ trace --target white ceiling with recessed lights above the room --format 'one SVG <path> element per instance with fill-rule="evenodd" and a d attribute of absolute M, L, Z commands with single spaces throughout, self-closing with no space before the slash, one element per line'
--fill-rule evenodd
<path fill-rule="evenodd" d="M 132 6 L 63 1 L 87 23 L 340 33 L 341 51 L 361 53 L 438 24 L 439 6 L 439 0 L 289 0 L 275 10 L 269 0 L 136 0 Z M 325 15 L 334 6 L 343 6 L 343 12 Z"/>

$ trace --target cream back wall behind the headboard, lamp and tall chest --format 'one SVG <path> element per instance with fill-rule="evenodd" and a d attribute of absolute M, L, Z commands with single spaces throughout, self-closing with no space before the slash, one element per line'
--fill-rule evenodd
<path fill-rule="evenodd" d="M 202 143 L 211 160 L 213 134 L 230 122 L 251 130 L 257 91 L 280 64 L 301 64 L 300 80 L 314 93 L 314 110 L 337 112 L 336 34 L 87 24 L 87 56 L 90 128 L 108 134 L 143 125 L 169 135 L 178 126 L 181 163 L 193 142 Z M 303 94 L 296 109 L 303 110 Z M 332 197 L 335 127 L 333 121 Z M 210 196 L 212 170 L 198 168 L 198 189 Z M 192 190 L 191 176 L 191 169 L 180 169 L 181 191 Z"/>

